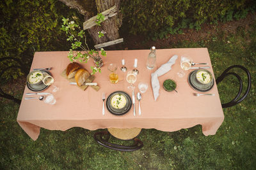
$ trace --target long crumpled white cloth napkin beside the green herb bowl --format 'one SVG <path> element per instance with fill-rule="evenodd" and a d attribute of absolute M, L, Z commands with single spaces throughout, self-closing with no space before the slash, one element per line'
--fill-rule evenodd
<path fill-rule="evenodd" d="M 161 67 L 159 67 L 159 69 L 157 69 L 155 73 L 151 74 L 151 85 L 152 85 L 155 101 L 159 96 L 159 88 L 160 88 L 159 80 L 157 77 L 170 71 L 170 69 L 172 69 L 171 68 L 172 65 L 175 64 L 175 60 L 177 60 L 177 58 L 178 58 L 178 55 L 173 55 L 172 58 L 168 60 L 168 62 L 163 64 Z"/>

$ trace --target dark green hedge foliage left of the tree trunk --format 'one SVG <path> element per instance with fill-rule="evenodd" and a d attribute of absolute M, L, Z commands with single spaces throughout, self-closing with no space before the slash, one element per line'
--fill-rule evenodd
<path fill-rule="evenodd" d="M 63 16 L 79 16 L 65 4 L 55 0 L 0 2 L 0 57 L 16 57 L 31 66 L 36 51 L 68 50 L 65 33 L 61 32 Z M 0 67 L 15 64 L 8 60 Z M 4 75 L 8 80 L 19 74 Z"/>

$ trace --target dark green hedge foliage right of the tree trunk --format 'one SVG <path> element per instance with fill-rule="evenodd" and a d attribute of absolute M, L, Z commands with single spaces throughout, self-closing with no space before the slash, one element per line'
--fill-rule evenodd
<path fill-rule="evenodd" d="M 182 29 L 200 30 L 206 21 L 216 24 L 246 17 L 255 11 L 253 0 L 132 0 L 123 1 L 125 31 L 163 39 L 168 34 L 181 34 Z"/>

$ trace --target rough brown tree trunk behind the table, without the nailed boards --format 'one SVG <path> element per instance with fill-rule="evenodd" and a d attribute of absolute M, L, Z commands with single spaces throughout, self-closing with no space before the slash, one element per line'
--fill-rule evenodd
<path fill-rule="evenodd" d="M 90 17 L 93 17 L 92 13 L 84 8 L 83 0 L 59 0 L 62 3 L 66 4 L 70 8 L 76 8 L 79 13 L 84 15 L 84 20 L 88 20 Z M 100 43 L 106 43 L 108 41 L 113 41 L 119 38 L 118 29 L 122 25 L 122 14 L 119 13 L 120 8 L 120 0 L 95 0 L 95 4 L 97 7 L 97 13 L 101 13 L 102 11 L 108 10 L 112 6 L 116 5 L 118 15 L 114 17 L 108 18 L 101 23 L 102 26 L 95 25 L 88 29 L 90 36 L 92 36 L 93 42 L 95 45 Z M 88 4 L 87 4 L 88 5 Z M 99 31 L 104 30 L 106 34 L 99 38 Z"/>

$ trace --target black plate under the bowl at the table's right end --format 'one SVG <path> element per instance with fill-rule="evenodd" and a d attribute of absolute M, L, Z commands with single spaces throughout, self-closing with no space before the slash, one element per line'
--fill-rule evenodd
<path fill-rule="evenodd" d="M 188 83 L 190 85 L 190 87 L 192 87 L 192 89 L 198 91 L 198 92 L 207 92 L 209 90 L 212 89 L 213 85 L 214 85 L 214 80 L 212 78 L 212 81 L 210 83 L 208 83 L 207 85 L 198 83 L 198 81 L 196 80 L 196 71 L 192 71 L 189 76 L 188 76 Z"/>

